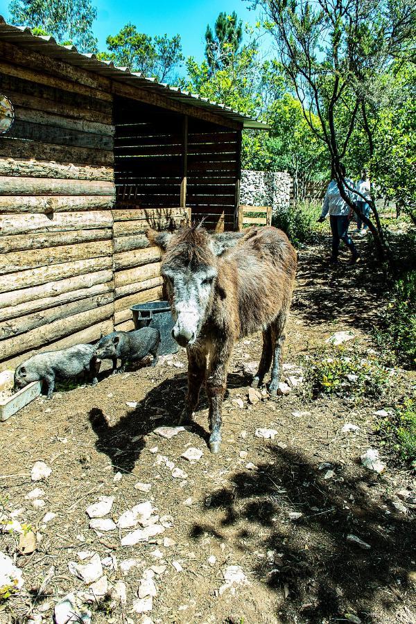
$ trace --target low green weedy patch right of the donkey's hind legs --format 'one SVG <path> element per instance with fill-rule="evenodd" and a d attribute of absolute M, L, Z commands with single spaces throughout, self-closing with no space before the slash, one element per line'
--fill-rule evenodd
<path fill-rule="evenodd" d="M 391 376 L 375 354 L 363 358 L 342 346 L 316 352 L 305 358 L 304 366 L 314 397 L 380 397 Z"/>

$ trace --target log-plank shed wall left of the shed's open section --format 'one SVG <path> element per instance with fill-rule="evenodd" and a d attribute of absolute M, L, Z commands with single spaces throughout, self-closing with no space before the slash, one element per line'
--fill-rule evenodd
<path fill-rule="evenodd" d="M 107 79 L 0 42 L 0 369 L 114 327 Z"/>

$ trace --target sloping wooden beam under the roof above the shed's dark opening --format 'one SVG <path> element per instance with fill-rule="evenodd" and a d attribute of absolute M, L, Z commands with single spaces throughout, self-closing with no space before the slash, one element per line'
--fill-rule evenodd
<path fill-rule="evenodd" d="M 221 125 L 225 128 L 234 128 L 234 130 L 241 130 L 243 128 L 243 123 L 227 119 L 226 117 L 222 117 L 214 112 L 205 110 L 204 108 L 198 108 L 184 102 L 178 102 L 177 100 L 168 98 L 167 95 L 163 96 L 156 91 L 150 91 L 144 87 L 131 87 L 130 85 L 125 85 L 125 83 L 119 83 L 114 80 L 112 83 L 112 92 L 114 95 L 132 98 L 133 100 L 144 102 L 146 104 L 153 104 L 154 106 L 159 106 L 166 110 L 171 110 L 180 114 L 189 115 L 190 117 L 194 117 L 196 119 L 216 123 L 217 125 Z"/>

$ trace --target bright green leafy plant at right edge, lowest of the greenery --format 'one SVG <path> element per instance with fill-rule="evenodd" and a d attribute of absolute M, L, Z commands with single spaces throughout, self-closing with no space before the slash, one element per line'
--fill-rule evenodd
<path fill-rule="evenodd" d="M 416 401 L 406 399 L 396 406 L 392 415 L 381 419 L 376 432 L 383 437 L 382 444 L 416 468 Z"/>

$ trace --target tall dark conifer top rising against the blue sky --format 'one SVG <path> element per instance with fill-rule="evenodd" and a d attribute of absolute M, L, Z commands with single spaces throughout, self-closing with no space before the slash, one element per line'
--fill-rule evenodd
<path fill-rule="evenodd" d="M 243 22 L 235 11 L 231 15 L 221 12 L 214 25 L 205 31 L 205 58 L 211 73 L 227 67 L 232 62 L 243 39 Z"/>

